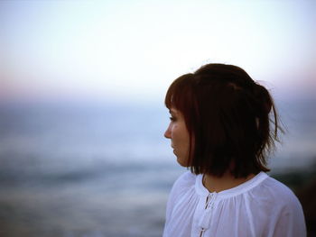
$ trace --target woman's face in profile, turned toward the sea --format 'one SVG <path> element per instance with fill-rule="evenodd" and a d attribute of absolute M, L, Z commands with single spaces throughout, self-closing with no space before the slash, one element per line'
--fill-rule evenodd
<path fill-rule="evenodd" d="M 179 110 L 170 109 L 171 122 L 164 136 L 172 140 L 173 153 L 178 163 L 188 167 L 190 135 L 185 125 L 184 117 Z"/>

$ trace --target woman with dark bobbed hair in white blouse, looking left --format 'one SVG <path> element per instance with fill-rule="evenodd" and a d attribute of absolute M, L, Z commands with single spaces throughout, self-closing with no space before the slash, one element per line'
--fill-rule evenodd
<path fill-rule="evenodd" d="M 306 236 L 298 199 L 265 173 L 279 130 L 265 87 L 242 68 L 208 64 L 173 81 L 165 105 L 164 136 L 190 171 L 172 187 L 163 237 Z"/>

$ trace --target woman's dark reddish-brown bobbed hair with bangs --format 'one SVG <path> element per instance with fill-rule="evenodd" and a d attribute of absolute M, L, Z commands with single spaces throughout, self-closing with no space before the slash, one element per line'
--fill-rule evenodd
<path fill-rule="evenodd" d="M 165 105 L 184 116 L 193 173 L 221 177 L 230 170 L 240 178 L 270 170 L 266 155 L 280 129 L 274 102 L 242 68 L 208 64 L 178 77 L 167 91 Z M 271 110 L 274 115 L 269 119 Z"/>

